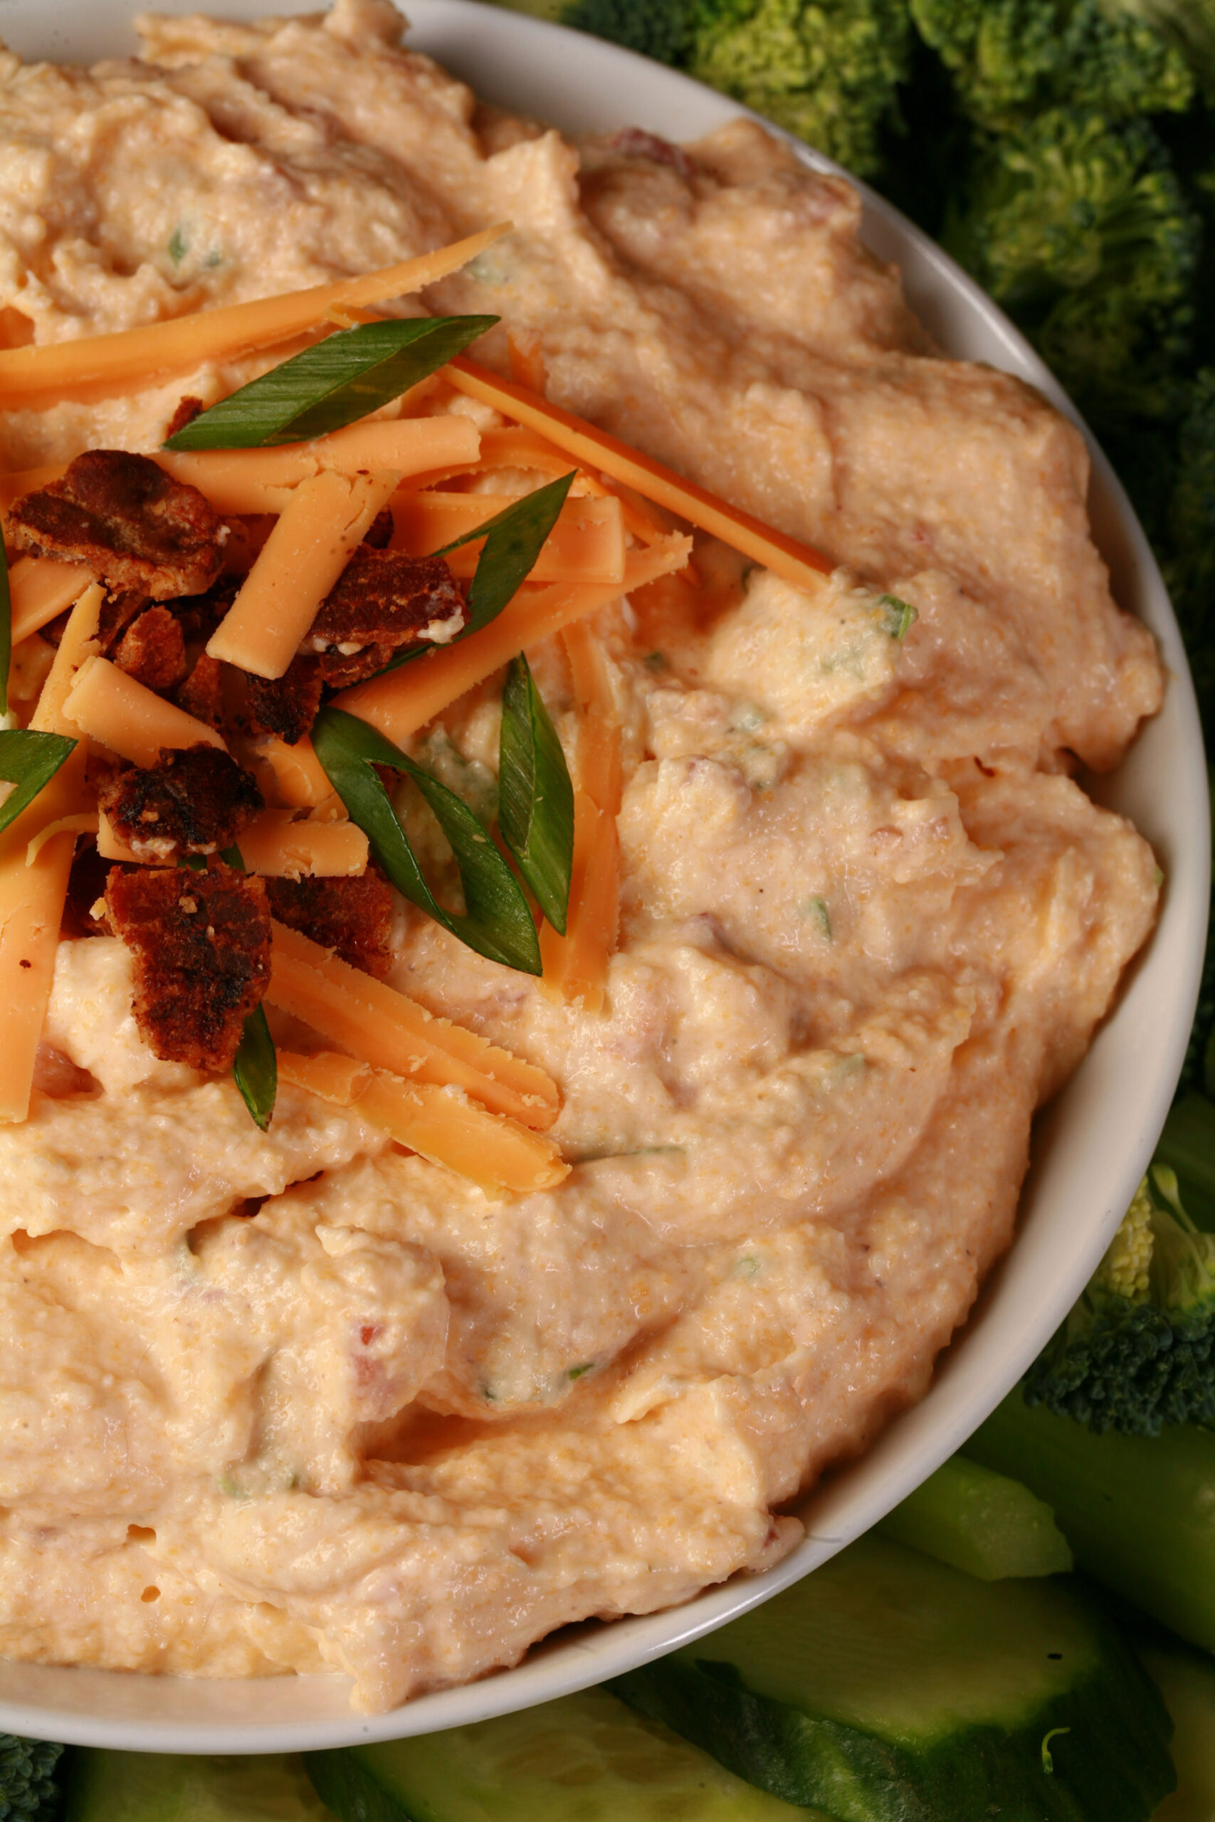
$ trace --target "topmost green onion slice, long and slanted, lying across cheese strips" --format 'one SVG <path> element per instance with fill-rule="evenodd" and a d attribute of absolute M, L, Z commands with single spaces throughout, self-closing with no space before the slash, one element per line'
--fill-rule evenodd
<path fill-rule="evenodd" d="M 184 425 L 166 450 L 302 443 L 377 412 L 437 372 L 497 317 L 408 317 L 337 330 Z"/>

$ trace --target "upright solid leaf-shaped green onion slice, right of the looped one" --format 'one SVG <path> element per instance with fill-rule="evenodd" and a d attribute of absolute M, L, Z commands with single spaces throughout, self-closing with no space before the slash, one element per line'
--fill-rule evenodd
<path fill-rule="evenodd" d="M 519 873 L 565 937 L 574 869 L 574 785 L 526 658 L 512 658 L 497 747 L 497 827 Z"/>

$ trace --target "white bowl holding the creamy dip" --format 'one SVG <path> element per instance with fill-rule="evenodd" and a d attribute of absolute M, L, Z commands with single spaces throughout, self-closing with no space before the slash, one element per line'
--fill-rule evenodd
<path fill-rule="evenodd" d="M 273 0 L 215 0 L 255 18 Z M 281 0 L 290 9 L 290 0 Z M 639 126 L 694 138 L 741 109 L 658 64 L 581 33 L 472 0 L 404 0 L 410 44 L 492 102 L 599 131 Z M 197 0 L 158 0 L 188 13 Z M 87 62 L 133 47 L 135 0 L 7 0 L 4 40 L 24 56 Z M 820 169 L 829 159 L 791 140 Z M 940 248 L 865 191 L 865 241 L 896 259 L 911 302 L 955 355 L 1018 374 L 1077 417 L 1038 357 Z M 1077 419 L 1078 421 L 1078 419 Z M 1073 1305 L 1151 1155 L 1182 1064 L 1199 989 L 1210 893 L 1210 820 L 1193 687 L 1160 572 L 1108 461 L 1093 446 L 1091 516 L 1118 601 L 1157 634 L 1171 670 L 1164 712 L 1142 732 L 1104 804 L 1126 813 L 1164 867 L 1160 924 L 1115 1015 L 1035 1131 L 1016 1244 L 942 1356 L 933 1388 L 874 1448 L 805 1507 L 807 1538 L 763 1576 L 736 1576 L 683 1607 L 567 1629 L 514 1671 L 421 1696 L 388 1715 L 348 1707 L 339 1676 L 208 1682 L 0 1660 L 0 1729 L 158 1753 L 273 1753 L 392 1740 L 548 1702 L 658 1658 L 767 1600 L 860 1536 L 933 1472 L 1020 1377 Z"/>

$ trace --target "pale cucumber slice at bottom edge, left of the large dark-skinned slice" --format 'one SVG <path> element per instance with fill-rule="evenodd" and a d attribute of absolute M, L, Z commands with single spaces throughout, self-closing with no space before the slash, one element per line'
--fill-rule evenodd
<path fill-rule="evenodd" d="M 304 1764 L 342 1822 L 814 1822 L 601 1689 Z"/>

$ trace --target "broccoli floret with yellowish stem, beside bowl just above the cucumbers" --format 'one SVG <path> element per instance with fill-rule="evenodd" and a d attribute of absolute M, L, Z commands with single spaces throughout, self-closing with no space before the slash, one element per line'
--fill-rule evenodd
<path fill-rule="evenodd" d="M 1215 1419 L 1215 1233 L 1153 1164 L 1084 1295 L 1026 1376 L 1026 1403 L 1097 1436 Z"/>

